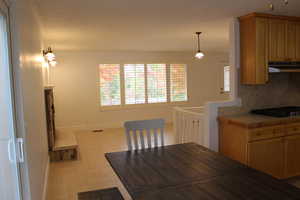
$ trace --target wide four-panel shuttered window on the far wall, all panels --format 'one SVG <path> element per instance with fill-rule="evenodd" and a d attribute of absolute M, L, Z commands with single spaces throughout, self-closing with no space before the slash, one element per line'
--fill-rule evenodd
<path fill-rule="evenodd" d="M 101 64 L 100 105 L 187 101 L 185 64 Z"/>

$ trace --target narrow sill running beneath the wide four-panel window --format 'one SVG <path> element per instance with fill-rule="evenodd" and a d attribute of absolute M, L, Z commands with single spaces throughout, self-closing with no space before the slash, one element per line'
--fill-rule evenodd
<path fill-rule="evenodd" d="M 121 106 L 100 106 L 100 112 L 106 111 L 121 111 L 121 110 L 138 110 L 138 109 L 148 109 L 155 107 L 174 107 L 180 105 L 188 104 L 188 101 L 178 101 L 172 103 L 151 103 L 151 104 L 134 104 L 134 105 L 121 105 Z"/>

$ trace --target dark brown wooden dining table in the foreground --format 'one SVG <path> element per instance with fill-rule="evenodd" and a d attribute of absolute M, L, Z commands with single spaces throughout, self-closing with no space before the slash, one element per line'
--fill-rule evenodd
<path fill-rule="evenodd" d="M 133 200 L 300 200 L 295 186 L 195 143 L 105 157 Z"/>

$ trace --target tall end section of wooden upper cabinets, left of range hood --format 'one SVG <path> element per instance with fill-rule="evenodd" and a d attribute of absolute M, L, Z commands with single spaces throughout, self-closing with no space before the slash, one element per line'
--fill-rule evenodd
<path fill-rule="evenodd" d="M 240 18 L 241 81 L 264 84 L 268 80 L 268 19 L 249 15 Z"/>

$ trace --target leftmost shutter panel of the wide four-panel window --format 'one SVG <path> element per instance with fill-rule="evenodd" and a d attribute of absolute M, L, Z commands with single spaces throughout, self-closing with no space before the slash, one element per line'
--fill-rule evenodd
<path fill-rule="evenodd" d="M 101 64 L 99 71 L 101 106 L 121 105 L 120 65 Z"/>

